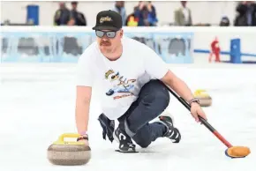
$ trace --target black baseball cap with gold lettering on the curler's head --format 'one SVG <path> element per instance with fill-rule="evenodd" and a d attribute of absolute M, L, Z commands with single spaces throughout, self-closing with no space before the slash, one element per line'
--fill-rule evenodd
<path fill-rule="evenodd" d="M 96 26 L 93 30 L 113 30 L 117 31 L 122 28 L 122 17 L 116 11 L 100 11 L 97 14 Z"/>

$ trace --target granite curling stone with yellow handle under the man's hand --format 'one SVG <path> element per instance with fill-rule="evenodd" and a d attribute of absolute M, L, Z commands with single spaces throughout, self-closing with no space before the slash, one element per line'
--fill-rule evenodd
<path fill-rule="evenodd" d="M 65 133 L 49 145 L 47 157 L 54 165 L 85 165 L 91 159 L 91 149 L 84 142 L 64 141 L 64 138 L 79 138 L 79 134 Z"/>

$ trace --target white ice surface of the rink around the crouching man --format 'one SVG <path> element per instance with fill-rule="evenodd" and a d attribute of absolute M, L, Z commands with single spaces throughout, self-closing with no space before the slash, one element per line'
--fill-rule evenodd
<path fill-rule="evenodd" d="M 94 90 L 89 138 L 92 159 L 85 166 L 53 166 L 47 148 L 75 127 L 75 64 L 1 64 L 1 171 L 255 171 L 256 65 L 170 65 L 192 88 L 206 89 L 213 106 L 204 108 L 209 123 L 233 145 L 252 153 L 232 160 L 226 149 L 203 125 L 195 123 L 176 99 L 169 112 L 181 131 L 180 144 L 157 139 L 139 153 L 114 152 L 117 144 L 102 139 L 97 121 L 101 112 Z M 253 163 L 254 162 L 254 163 Z"/>

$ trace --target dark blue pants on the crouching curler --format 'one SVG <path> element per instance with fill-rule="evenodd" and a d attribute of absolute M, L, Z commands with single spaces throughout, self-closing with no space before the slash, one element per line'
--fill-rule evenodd
<path fill-rule="evenodd" d="M 151 80 L 142 86 L 139 98 L 118 118 L 119 128 L 142 148 L 146 148 L 156 138 L 166 132 L 162 123 L 148 123 L 161 115 L 169 105 L 169 91 L 160 80 Z"/>

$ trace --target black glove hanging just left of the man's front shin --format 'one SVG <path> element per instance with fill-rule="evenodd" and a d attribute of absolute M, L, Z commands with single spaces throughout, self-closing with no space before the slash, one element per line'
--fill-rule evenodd
<path fill-rule="evenodd" d="M 112 141 L 114 140 L 113 132 L 115 130 L 115 121 L 109 120 L 109 118 L 104 114 L 101 114 L 98 117 L 98 120 L 101 123 L 102 129 L 103 129 L 102 138 L 106 140 L 106 135 L 107 135 L 109 138 L 109 141 L 112 143 Z"/>

